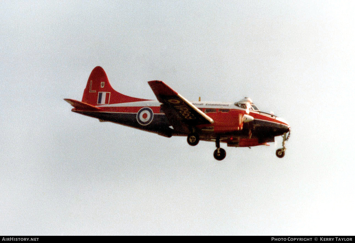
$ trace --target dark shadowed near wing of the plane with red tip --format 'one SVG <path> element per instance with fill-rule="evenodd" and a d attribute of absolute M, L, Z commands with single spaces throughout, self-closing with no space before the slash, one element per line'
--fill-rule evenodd
<path fill-rule="evenodd" d="M 171 123 L 183 123 L 183 125 L 196 126 L 212 124 L 213 119 L 204 114 L 195 105 L 171 89 L 162 81 L 149 81 L 155 96 L 162 105 L 162 111 Z M 178 119 L 179 121 L 176 121 Z M 173 125 L 174 126 L 174 125 Z"/>

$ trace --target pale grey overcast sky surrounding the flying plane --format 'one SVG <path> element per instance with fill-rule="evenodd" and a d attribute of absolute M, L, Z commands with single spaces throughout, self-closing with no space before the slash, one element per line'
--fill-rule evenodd
<path fill-rule="evenodd" d="M 1 235 L 353 235 L 353 1 L 2 1 Z M 250 97 L 271 146 L 189 146 L 71 112 L 91 70 L 155 99 Z"/>

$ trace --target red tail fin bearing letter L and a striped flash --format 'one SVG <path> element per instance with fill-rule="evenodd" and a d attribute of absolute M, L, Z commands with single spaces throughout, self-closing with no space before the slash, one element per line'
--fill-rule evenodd
<path fill-rule="evenodd" d="M 92 70 L 89 76 L 81 101 L 90 105 L 104 105 L 143 100 L 147 99 L 125 96 L 115 91 L 111 87 L 105 71 L 102 67 L 97 66 Z"/>

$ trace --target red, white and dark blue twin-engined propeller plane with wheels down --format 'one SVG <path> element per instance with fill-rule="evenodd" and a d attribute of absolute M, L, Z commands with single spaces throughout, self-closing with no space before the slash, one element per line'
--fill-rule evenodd
<path fill-rule="evenodd" d="M 158 100 L 126 96 L 115 91 L 103 68 L 95 67 L 87 81 L 81 102 L 64 99 L 73 112 L 156 133 L 164 137 L 187 136 L 196 146 L 200 140 L 215 142 L 213 156 L 223 160 L 228 147 L 268 145 L 282 136 L 279 158 L 285 155 L 285 141 L 291 127 L 280 117 L 260 111 L 250 98 L 238 102 L 189 101 L 162 81 L 148 81 Z"/>

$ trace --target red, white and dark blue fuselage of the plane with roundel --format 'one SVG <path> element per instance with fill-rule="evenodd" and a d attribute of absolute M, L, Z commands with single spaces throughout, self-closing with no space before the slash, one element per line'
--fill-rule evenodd
<path fill-rule="evenodd" d="M 198 109 L 213 118 L 211 126 L 201 128 L 199 131 L 200 139 L 206 141 L 215 140 L 221 137 L 222 142 L 229 146 L 256 146 L 266 142 L 274 141 L 275 136 L 279 136 L 289 131 L 289 125 L 277 116 L 261 111 L 250 111 L 249 115 L 253 120 L 245 123 L 240 130 L 218 131 L 219 127 L 228 127 L 230 123 L 238 120 L 237 114 L 245 111 L 237 107 L 234 103 L 220 102 L 192 102 Z M 73 112 L 86 116 L 98 118 L 100 121 L 114 122 L 121 125 L 138 128 L 144 131 L 157 133 L 165 137 L 186 136 L 190 133 L 188 127 L 175 129 L 169 122 L 165 113 L 161 110 L 162 103 L 154 100 L 98 105 L 99 111 L 84 111 L 72 109 Z M 138 114 L 141 109 L 143 115 Z M 150 113 L 151 112 L 151 113 Z M 148 116 L 150 116 L 148 118 Z M 147 119 L 148 118 L 148 119 Z M 244 142 L 239 143 L 242 139 Z M 257 142 L 256 142 L 257 140 Z M 248 141 L 250 143 L 248 143 Z"/>

